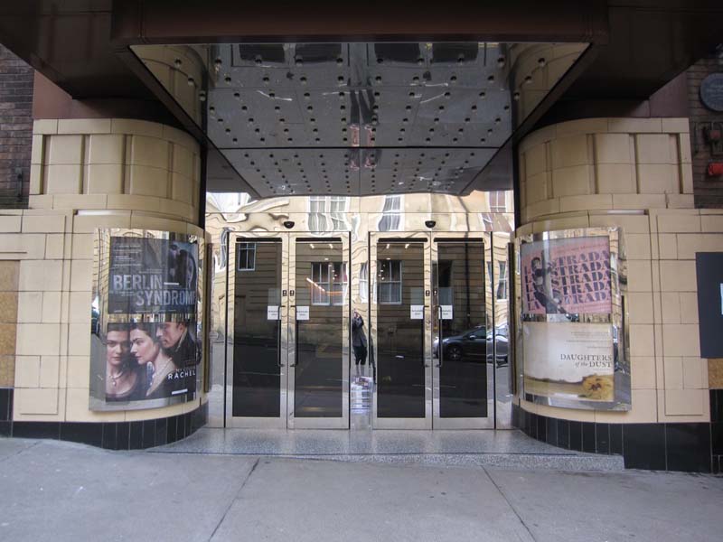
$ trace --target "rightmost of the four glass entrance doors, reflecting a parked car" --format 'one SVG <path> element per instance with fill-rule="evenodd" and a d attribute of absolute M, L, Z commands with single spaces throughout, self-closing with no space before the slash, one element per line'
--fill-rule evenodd
<path fill-rule="evenodd" d="M 488 323 L 483 238 L 434 236 L 434 426 L 494 426 L 494 334 Z"/>

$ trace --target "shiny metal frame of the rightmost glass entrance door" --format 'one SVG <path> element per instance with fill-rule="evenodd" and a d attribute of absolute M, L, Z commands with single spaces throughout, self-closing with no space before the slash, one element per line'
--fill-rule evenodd
<path fill-rule="evenodd" d="M 441 306 L 439 304 L 439 286 L 438 286 L 438 264 L 439 264 L 439 246 L 445 242 L 474 242 L 483 246 L 484 261 L 480 262 L 483 266 L 483 281 L 484 281 L 484 298 L 485 298 L 485 325 L 489 325 L 489 317 L 487 316 L 490 312 L 490 307 L 486 306 L 486 300 L 490 298 L 490 280 L 486 276 L 486 261 L 487 261 L 487 249 L 489 248 L 488 233 L 485 232 L 435 232 L 432 235 L 432 242 L 430 244 L 430 260 L 432 269 L 432 313 L 433 318 L 437 319 L 437 322 L 433 322 L 432 327 L 437 329 L 441 333 L 442 322 L 441 322 Z M 432 341 L 435 339 L 434 332 L 431 333 Z M 487 416 L 486 417 L 442 417 L 440 416 L 439 405 L 441 399 L 441 375 L 440 368 L 444 360 L 444 351 L 441 347 L 442 337 L 439 337 L 439 359 L 433 360 L 432 363 L 432 382 L 433 382 L 433 426 L 435 429 L 493 429 L 494 428 L 494 367 L 495 360 L 493 359 L 492 370 L 490 370 L 489 364 L 487 364 Z"/>

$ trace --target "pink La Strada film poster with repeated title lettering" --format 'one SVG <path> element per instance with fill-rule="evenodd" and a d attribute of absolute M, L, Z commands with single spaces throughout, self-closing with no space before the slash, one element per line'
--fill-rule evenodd
<path fill-rule="evenodd" d="M 522 313 L 611 312 L 610 241 L 558 238 L 521 245 Z"/>

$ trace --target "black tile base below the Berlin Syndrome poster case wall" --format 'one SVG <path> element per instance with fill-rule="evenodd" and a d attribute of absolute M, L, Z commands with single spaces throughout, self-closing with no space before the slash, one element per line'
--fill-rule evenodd
<path fill-rule="evenodd" d="M 0 389 L 0 392 L 2 391 L 4 389 Z M 10 391 L 12 392 L 12 389 Z M 10 401 L 12 407 L 12 393 L 7 400 Z M 206 425 L 208 414 L 208 404 L 205 404 L 192 412 L 179 416 L 141 422 L 13 422 L 0 420 L 0 436 L 52 438 L 91 444 L 108 450 L 138 450 L 173 443 L 192 435 Z M 171 427 L 173 429 L 170 429 Z"/>

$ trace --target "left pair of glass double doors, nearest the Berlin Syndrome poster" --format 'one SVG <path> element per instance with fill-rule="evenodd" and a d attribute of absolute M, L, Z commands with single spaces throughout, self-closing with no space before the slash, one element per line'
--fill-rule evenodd
<path fill-rule="evenodd" d="M 348 235 L 229 243 L 226 425 L 348 427 Z"/>

